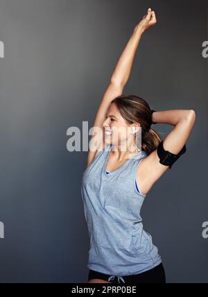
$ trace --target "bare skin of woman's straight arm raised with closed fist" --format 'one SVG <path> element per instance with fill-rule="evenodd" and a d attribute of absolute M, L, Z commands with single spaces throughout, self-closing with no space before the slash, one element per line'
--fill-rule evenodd
<path fill-rule="evenodd" d="M 103 95 L 103 99 L 96 113 L 96 118 L 94 121 L 93 127 L 98 127 L 103 130 L 102 135 L 104 134 L 104 128 L 102 126 L 103 121 L 105 121 L 105 115 L 110 107 L 110 103 L 116 98 L 116 96 L 120 96 L 123 93 L 123 88 L 125 84 L 128 82 L 128 78 L 130 77 L 130 72 L 132 69 L 132 64 L 135 59 L 135 53 L 137 51 L 137 47 L 139 46 L 139 42 L 141 40 L 141 36 L 150 26 L 156 24 L 157 20 L 155 17 L 155 12 L 148 10 L 147 15 L 135 26 L 135 29 L 128 40 L 128 43 L 125 46 L 118 62 L 116 63 L 116 67 L 114 67 L 114 71 L 110 78 L 110 83 L 107 85 L 107 89 Z M 91 140 L 98 139 L 96 129 L 92 131 Z M 101 139 L 100 142 L 96 144 L 96 149 L 90 149 L 87 156 L 87 167 L 94 160 L 97 153 L 103 148 L 104 139 Z"/>

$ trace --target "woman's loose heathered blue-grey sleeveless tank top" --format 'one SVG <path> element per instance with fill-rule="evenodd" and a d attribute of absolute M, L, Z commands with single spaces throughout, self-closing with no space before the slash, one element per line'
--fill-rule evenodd
<path fill-rule="evenodd" d="M 105 169 L 112 144 L 99 151 L 83 172 L 81 195 L 89 232 L 88 268 L 117 276 L 142 273 L 162 262 L 140 216 L 146 195 L 137 192 L 139 151 L 121 167 Z"/>

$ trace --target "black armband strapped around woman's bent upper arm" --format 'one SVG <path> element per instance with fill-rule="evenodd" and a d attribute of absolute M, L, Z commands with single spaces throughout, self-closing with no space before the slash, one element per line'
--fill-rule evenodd
<path fill-rule="evenodd" d="M 187 146 L 184 144 L 182 150 L 175 155 L 174 153 L 171 153 L 169 151 L 166 151 L 163 147 L 163 140 L 159 143 L 159 146 L 157 146 L 157 155 L 159 157 L 159 163 L 169 166 L 169 169 L 171 169 L 172 165 L 177 161 L 178 158 L 182 154 L 184 154 L 187 151 Z"/>

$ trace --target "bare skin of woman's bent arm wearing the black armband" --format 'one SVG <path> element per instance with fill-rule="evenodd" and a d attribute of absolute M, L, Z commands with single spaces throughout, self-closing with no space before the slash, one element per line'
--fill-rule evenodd
<path fill-rule="evenodd" d="M 174 126 L 164 138 L 163 145 L 166 151 L 177 154 L 191 134 L 196 114 L 194 110 L 164 110 L 153 112 L 153 121 Z M 157 149 L 141 160 L 137 169 L 137 182 L 141 193 L 146 195 L 166 170 L 168 166 L 159 163 Z"/>

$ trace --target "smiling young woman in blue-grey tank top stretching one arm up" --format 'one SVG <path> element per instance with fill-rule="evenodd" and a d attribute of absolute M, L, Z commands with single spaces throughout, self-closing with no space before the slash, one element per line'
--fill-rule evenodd
<path fill-rule="evenodd" d="M 94 130 L 96 149 L 89 145 L 81 187 L 90 239 L 88 282 L 166 282 L 140 210 L 151 187 L 186 151 L 196 115 L 194 110 L 150 110 L 139 96 L 122 95 L 141 35 L 156 22 L 149 8 L 117 62 L 94 121 L 102 133 Z M 173 125 L 163 141 L 150 128 L 157 123 Z"/>

